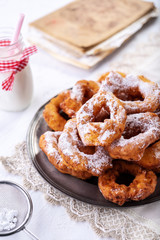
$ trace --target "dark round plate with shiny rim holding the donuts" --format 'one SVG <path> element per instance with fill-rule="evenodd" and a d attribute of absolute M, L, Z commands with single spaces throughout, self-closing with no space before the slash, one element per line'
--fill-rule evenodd
<path fill-rule="evenodd" d="M 98 189 L 98 179 L 96 177 L 84 181 L 67 174 L 62 174 L 55 169 L 48 161 L 46 155 L 40 150 L 38 144 L 39 138 L 44 132 L 50 130 L 42 116 L 46 104 L 35 114 L 27 133 L 27 150 L 38 172 L 49 184 L 73 198 L 98 206 L 118 207 L 118 205 L 104 199 Z M 158 200 L 160 200 L 160 175 L 158 176 L 156 190 L 152 195 L 143 201 L 127 202 L 123 207 L 144 205 Z"/>

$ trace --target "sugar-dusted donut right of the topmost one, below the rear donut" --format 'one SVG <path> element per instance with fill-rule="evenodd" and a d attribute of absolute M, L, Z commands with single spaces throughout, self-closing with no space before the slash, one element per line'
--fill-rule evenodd
<path fill-rule="evenodd" d="M 107 150 L 112 158 L 139 161 L 145 149 L 160 139 L 160 119 L 155 113 L 138 113 L 127 116 L 122 136 Z"/>

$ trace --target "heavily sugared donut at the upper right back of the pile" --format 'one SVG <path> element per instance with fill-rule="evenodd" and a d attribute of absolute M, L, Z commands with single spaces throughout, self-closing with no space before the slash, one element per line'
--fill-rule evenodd
<path fill-rule="evenodd" d="M 103 74 L 98 82 L 102 83 L 102 89 L 120 99 L 128 114 L 154 112 L 159 106 L 158 85 L 142 75 L 136 77 L 112 71 Z"/>

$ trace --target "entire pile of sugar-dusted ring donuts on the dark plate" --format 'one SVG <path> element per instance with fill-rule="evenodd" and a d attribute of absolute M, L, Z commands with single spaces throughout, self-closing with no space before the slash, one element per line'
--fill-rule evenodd
<path fill-rule="evenodd" d="M 155 191 L 160 172 L 156 83 L 107 72 L 97 82 L 81 80 L 60 93 L 43 116 L 55 132 L 44 133 L 39 146 L 58 171 L 83 180 L 98 177 L 104 198 L 120 206 Z M 129 185 L 119 181 L 123 174 L 133 177 Z"/>

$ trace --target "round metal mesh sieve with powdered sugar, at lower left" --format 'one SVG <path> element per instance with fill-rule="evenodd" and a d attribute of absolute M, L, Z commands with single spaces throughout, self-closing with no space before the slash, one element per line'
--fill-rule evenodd
<path fill-rule="evenodd" d="M 14 229 L 0 232 L 0 236 L 7 236 L 23 230 L 32 239 L 38 238 L 26 229 L 25 225 L 29 221 L 33 211 L 33 204 L 30 195 L 20 185 L 0 181 L 0 208 L 15 209 L 18 211 L 17 224 Z"/>

